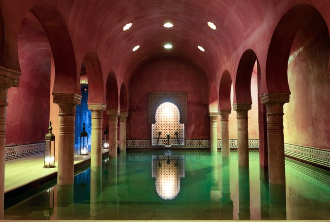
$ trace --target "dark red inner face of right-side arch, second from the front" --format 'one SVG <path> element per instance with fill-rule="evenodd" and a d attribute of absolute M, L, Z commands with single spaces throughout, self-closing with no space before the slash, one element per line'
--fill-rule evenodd
<path fill-rule="evenodd" d="M 252 104 L 251 76 L 256 60 L 257 55 L 252 49 L 248 49 L 243 53 L 237 69 L 234 103 Z M 258 71 L 259 70 L 260 68 L 258 65 Z M 259 72 L 257 74 L 259 75 Z"/>

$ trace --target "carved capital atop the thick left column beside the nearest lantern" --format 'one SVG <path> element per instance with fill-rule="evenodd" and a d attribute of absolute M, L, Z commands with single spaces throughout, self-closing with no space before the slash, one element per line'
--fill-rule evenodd
<path fill-rule="evenodd" d="M 75 106 L 80 105 L 81 96 L 75 93 L 53 93 L 53 102 L 60 107 L 60 116 L 75 115 Z"/>

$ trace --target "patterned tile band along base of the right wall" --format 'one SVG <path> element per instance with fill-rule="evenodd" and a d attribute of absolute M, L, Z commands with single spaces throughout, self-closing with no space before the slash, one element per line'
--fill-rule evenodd
<path fill-rule="evenodd" d="M 290 158 L 330 169 L 330 150 L 284 143 L 284 153 Z"/>

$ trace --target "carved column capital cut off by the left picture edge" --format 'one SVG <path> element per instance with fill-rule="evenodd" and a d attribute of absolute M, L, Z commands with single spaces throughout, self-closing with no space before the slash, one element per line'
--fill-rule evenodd
<path fill-rule="evenodd" d="M 10 87 L 18 87 L 21 73 L 0 66 L 0 107 L 8 106 L 7 92 Z"/>

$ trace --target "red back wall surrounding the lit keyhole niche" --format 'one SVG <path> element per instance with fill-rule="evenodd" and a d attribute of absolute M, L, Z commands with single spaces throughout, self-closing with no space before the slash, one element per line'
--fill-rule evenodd
<path fill-rule="evenodd" d="M 185 139 L 210 139 L 206 77 L 180 57 L 153 59 L 133 74 L 129 85 L 127 139 L 151 139 L 148 92 L 187 92 Z"/>

